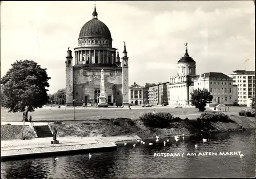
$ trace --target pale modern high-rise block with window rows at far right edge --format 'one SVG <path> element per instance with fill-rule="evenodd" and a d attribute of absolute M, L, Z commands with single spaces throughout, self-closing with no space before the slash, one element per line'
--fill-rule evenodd
<path fill-rule="evenodd" d="M 236 70 L 228 76 L 237 85 L 238 105 L 248 105 L 248 101 L 255 96 L 255 71 Z"/>

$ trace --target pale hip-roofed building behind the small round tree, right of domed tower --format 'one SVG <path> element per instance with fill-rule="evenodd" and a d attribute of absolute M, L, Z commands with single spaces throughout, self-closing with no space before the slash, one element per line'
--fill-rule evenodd
<path fill-rule="evenodd" d="M 207 104 L 207 106 L 216 106 L 218 104 L 231 106 L 237 101 L 237 86 L 233 85 L 232 78 L 223 73 L 208 72 L 201 74 L 196 80 L 194 80 L 193 88 L 206 88 L 214 97 L 211 103 Z M 190 92 L 193 91 L 193 88 L 190 89 Z M 189 97 L 189 99 L 190 98 L 191 97 Z"/>

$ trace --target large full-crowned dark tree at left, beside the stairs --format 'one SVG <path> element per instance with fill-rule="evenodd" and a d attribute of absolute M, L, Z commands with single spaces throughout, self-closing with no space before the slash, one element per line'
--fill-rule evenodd
<path fill-rule="evenodd" d="M 28 121 L 28 111 L 41 108 L 49 100 L 46 87 L 51 78 L 46 70 L 32 60 L 14 62 L 1 79 L 1 105 L 9 113 L 23 112 L 23 120 Z"/>

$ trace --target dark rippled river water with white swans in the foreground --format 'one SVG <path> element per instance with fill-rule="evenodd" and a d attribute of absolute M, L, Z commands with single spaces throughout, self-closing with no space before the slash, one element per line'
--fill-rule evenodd
<path fill-rule="evenodd" d="M 209 139 L 202 142 L 202 139 Z M 8 161 L 1 163 L 1 178 L 198 178 L 255 176 L 255 132 L 247 130 L 215 134 L 214 136 L 185 137 L 178 142 L 170 138 L 164 146 L 160 139 L 145 140 L 124 146 L 117 151 L 69 156 Z M 154 142 L 153 145 L 148 143 Z M 198 147 L 195 147 L 198 144 Z M 241 151 L 239 155 L 220 155 L 219 152 Z M 196 153 L 189 156 L 187 153 Z M 199 155 L 216 152 L 217 155 Z M 154 153 L 178 153 L 183 156 L 154 156 Z M 206 154 L 206 153 L 204 153 Z M 234 154 L 234 153 L 233 153 Z M 168 154 L 167 154 L 168 155 Z M 171 154 L 170 154 L 171 155 Z"/>

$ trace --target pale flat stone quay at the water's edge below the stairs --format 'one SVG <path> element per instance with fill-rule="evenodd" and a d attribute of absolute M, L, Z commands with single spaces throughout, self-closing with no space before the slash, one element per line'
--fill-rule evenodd
<path fill-rule="evenodd" d="M 13 140 L 1 142 L 1 160 L 18 160 L 40 156 L 58 156 L 63 154 L 78 154 L 115 150 L 115 142 L 140 139 L 138 136 L 119 137 L 63 137 L 58 138 L 59 144 L 51 144 L 52 138 L 37 138 L 31 140 Z"/>

